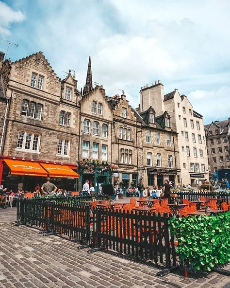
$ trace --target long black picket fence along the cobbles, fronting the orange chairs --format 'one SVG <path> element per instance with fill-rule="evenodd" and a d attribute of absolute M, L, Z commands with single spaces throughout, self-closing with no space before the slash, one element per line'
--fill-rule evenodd
<path fill-rule="evenodd" d="M 31 225 L 45 235 L 60 234 L 76 239 L 88 252 L 110 249 L 136 260 L 153 260 L 166 269 L 177 264 L 175 239 L 165 214 L 133 212 L 56 203 L 43 199 L 18 201 L 17 225 Z"/>

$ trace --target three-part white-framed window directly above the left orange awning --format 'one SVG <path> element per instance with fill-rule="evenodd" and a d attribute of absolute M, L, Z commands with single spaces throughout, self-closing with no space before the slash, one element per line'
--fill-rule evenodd
<path fill-rule="evenodd" d="M 19 131 L 17 137 L 17 149 L 38 152 L 40 146 L 40 135 L 31 132 Z"/>

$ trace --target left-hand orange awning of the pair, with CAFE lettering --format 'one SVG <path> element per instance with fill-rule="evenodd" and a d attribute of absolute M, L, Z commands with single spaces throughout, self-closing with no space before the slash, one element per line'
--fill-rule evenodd
<path fill-rule="evenodd" d="M 4 159 L 4 161 L 10 167 L 11 174 L 47 177 L 48 173 L 37 162 L 12 159 Z"/>

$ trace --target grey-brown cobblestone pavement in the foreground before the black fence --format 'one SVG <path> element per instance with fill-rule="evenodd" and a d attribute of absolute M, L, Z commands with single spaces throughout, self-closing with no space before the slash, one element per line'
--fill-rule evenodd
<path fill-rule="evenodd" d="M 153 266 L 110 252 L 87 254 L 15 220 L 16 208 L 0 209 L 0 288 L 230 288 L 230 278 L 217 273 L 185 278 L 178 270 L 160 278 Z"/>

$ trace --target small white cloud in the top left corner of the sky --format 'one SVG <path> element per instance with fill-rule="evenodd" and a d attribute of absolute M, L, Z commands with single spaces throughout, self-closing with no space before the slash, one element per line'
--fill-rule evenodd
<path fill-rule="evenodd" d="M 10 35 L 10 24 L 24 20 L 21 11 L 14 11 L 11 7 L 0 1 L 0 34 Z"/>

